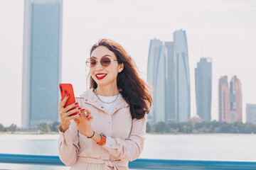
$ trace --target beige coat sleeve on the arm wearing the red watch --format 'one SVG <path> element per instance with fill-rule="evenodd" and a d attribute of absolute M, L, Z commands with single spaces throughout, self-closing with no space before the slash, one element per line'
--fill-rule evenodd
<path fill-rule="evenodd" d="M 144 147 L 146 136 L 146 117 L 132 120 L 132 129 L 127 140 L 107 136 L 106 144 L 102 147 L 114 157 L 123 161 L 133 161 L 139 158 Z"/>

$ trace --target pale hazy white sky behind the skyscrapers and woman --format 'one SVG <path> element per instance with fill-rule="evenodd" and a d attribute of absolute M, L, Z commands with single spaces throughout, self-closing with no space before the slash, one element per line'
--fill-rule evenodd
<path fill-rule="evenodd" d="M 5 126 L 21 126 L 23 7 L 21 0 L 0 0 L 0 123 Z M 150 40 L 173 41 L 174 31 L 182 29 L 188 40 L 191 116 L 196 115 L 196 63 L 211 57 L 212 120 L 218 120 L 218 79 L 236 75 L 245 122 L 246 103 L 256 104 L 255 21 L 253 0 L 65 0 L 62 82 L 73 84 L 76 95 L 86 90 L 85 60 L 100 38 L 119 42 L 146 81 Z"/>

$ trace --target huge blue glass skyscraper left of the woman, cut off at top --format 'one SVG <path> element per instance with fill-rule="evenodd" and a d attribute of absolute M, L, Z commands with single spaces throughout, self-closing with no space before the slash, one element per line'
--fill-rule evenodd
<path fill-rule="evenodd" d="M 62 0 L 25 0 L 22 118 L 24 129 L 58 120 Z"/>

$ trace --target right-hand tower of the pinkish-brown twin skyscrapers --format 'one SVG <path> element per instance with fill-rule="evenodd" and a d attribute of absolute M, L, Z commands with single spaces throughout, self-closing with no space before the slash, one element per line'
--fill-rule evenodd
<path fill-rule="evenodd" d="M 238 77 L 230 81 L 230 123 L 242 122 L 242 87 Z"/>

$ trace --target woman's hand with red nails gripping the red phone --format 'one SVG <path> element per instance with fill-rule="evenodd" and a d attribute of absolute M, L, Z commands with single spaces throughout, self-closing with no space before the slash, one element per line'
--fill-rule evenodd
<path fill-rule="evenodd" d="M 71 108 L 78 106 L 77 102 L 64 108 L 65 103 L 68 101 L 68 97 L 69 95 L 67 94 L 67 96 L 65 96 L 63 101 L 60 101 L 60 107 L 58 108 L 58 112 L 60 114 L 60 125 L 61 125 L 61 128 L 63 128 L 63 132 L 68 130 L 68 127 L 70 126 L 70 120 L 76 119 L 80 116 L 79 114 L 70 116 L 71 114 L 78 112 L 79 109 L 81 109 L 81 108 L 75 108 L 73 110 L 70 110 Z"/>

